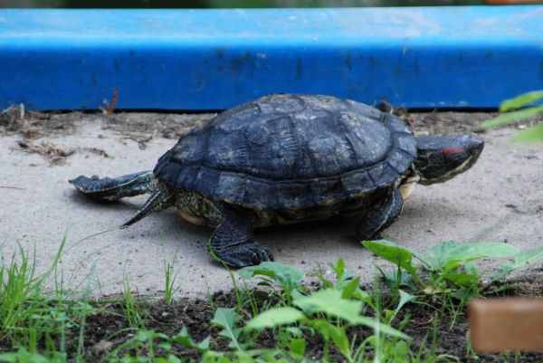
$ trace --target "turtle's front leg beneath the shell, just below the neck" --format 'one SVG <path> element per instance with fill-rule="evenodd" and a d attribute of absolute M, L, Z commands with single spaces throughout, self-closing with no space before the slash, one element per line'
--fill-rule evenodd
<path fill-rule="evenodd" d="M 394 224 L 402 215 L 404 198 L 395 186 L 391 186 L 375 205 L 372 205 L 367 215 L 355 223 L 355 232 L 362 241 L 376 240 L 380 233 Z"/>

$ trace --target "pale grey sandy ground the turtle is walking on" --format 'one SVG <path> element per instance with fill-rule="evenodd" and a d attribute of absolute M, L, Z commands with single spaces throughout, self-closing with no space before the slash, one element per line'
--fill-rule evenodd
<path fill-rule="evenodd" d="M 485 115 L 479 117 L 484 119 Z M 178 124 L 185 122 L 172 118 Z M 49 132 L 37 139 L 24 139 L 20 132 L 0 133 L 0 241 L 4 243 L 4 263 L 11 262 L 14 247 L 20 243 L 31 255 L 35 246 L 37 272 L 46 271 L 68 229 L 67 252 L 62 255 L 59 271 L 66 287 L 78 287 L 95 263 L 93 286 L 97 294 L 122 291 L 123 275 L 138 293 L 160 294 L 165 290 L 167 262 L 174 265 L 176 282 L 184 296 L 205 294 L 205 279 L 211 291 L 229 290 L 232 282 L 228 272 L 207 254 L 211 229 L 189 224 L 176 210 L 169 209 L 119 230 L 116 226 L 128 220 L 146 196 L 104 205 L 90 202 L 68 184 L 68 179 L 80 175 L 116 177 L 151 169 L 176 139 L 156 136 L 144 138 L 147 142 L 142 143 L 130 134 L 133 130 L 129 123 L 123 129 L 111 127 L 104 117 L 74 114 L 72 119 L 69 128 L 60 128 L 64 132 Z M 191 122 L 182 126 L 188 128 Z M 454 133 L 468 126 L 449 122 L 444 130 Z M 428 124 L 415 130 L 435 132 Z M 510 128 L 481 134 L 486 146 L 472 170 L 443 185 L 417 186 L 403 217 L 386 230 L 385 238 L 419 251 L 446 240 L 504 242 L 523 251 L 543 244 L 543 144 L 510 144 L 514 132 Z M 26 136 L 39 135 L 27 131 Z M 18 144 L 22 140 L 31 147 L 47 141 L 64 152 L 76 151 L 52 163 L 40 154 L 26 152 L 28 148 Z M 100 155 L 100 150 L 108 157 Z M 103 231 L 109 232 L 85 239 Z M 328 264 L 343 257 L 348 268 L 363 280 L 371 281 L 376 273 L 375 257 L 359 244 L 346 224 L 270 227 L 256 230 L 255 235 L 257 241 L 271 247 L 277 262 L 293 264 L 305 272 L 317 271 L 318 263 L 329 271 Z M 382 261 L 379 264 L 386 265 Z M 487 270 L 495 265 L 482 262 Z"/>

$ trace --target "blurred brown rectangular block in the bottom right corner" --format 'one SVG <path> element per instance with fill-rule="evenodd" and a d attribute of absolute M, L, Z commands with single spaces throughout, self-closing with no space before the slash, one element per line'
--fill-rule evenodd
<path fill-rule="evenodd" d="M 476 300 L 468 308 L 472 347 L 478 352 L 543 349 L 543 300 Z"/>

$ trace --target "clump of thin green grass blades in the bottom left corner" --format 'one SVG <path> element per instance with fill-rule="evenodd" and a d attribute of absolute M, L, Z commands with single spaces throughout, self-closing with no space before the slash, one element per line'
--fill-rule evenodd
<path fill-rule="evenodd" d="M 75 295 L 75 291 L 70 291 L 64 288 L 62 283 L 58 283 L 56 269 L 57 264 L 66 253 L 64 245 L 67 234 L 68 227 L 52 265 L 42 275 L 36 276 L 35 274 L 35 246 L 32 260 L 27 253 L 24 253 L 21 244 L 17 244 L 18 248 L 11 257 L 11 263 L 8 265 L 2 263 L 0 270 L 0 340 L 11 342 L 14 348 L 22 348 L 17 350 L 15 356 L 10 356 L 12 358 L 20 358 L 28 353 L 28 359 L 39 361 L 36 360 L 40 359 L 36 353 L 40 348 L 40 343 L 45 341 L 49 349 L 54 350 L 55 346 L 52 344 L 54 337 L 61 337 L 60 355 L 63 356 L 66 351 L 65 331 L 78 328 L 78 326 L 81 328 L 83 317 L 93 311 L 85 301 L 72 301 L 71 298 Z M 81 242 L 82 240 L 77 244 Z M 0 254 L 2 254 L 4 262 L 3 248 L 0 248 Z M 52 273 L 57 281 L 55 284 L 57 289 L 52 293 L 45 293 L 43 292 L 43 284 L 51 277 Z"/>

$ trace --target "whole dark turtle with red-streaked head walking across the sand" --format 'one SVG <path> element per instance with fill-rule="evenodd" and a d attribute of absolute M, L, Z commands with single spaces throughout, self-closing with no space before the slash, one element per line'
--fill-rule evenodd
<path fill-rule="evenodd" d="M 150 194 L 121 227 L 176 206 L 215 228 L 210 253 L 242 267 L 274 261 L 255 227 L 343 216 L 360 240 L 380 238 L 416 184 L 461 174 L 483 147 L 470 134 L 415 137 L 402 119 L 355 100 L 282 93 L 189 130 L 153 171 L 69 182 L 98 201 Z"/>

